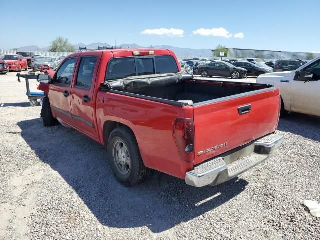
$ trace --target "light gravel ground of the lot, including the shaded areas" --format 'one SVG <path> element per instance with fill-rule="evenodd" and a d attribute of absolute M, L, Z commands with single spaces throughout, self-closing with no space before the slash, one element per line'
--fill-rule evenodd
<path fill-rule="evenodd" d="M 154 172 L 126 188 L 101 145 L 43 127 L 24 80 L 0 84 L 0 239 L 320 239 L 303 206 L 320 202 L 319 118 L 281 119 L 275 156 L 216 187 Z"/>

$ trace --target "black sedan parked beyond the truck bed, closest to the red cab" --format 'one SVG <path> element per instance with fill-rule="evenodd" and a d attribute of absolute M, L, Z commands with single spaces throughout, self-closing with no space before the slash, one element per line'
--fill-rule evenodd
<path fill-rule="evenodd" d="M 225 76 L 231 77 L 232 79 L 242 78 L 246 76 L 246 72 L 246 69 L 233 66 L 228 62 L 212 62 L 201 65 L 198 70 L 198 73 L 200 73 L 202 77 Z"/>

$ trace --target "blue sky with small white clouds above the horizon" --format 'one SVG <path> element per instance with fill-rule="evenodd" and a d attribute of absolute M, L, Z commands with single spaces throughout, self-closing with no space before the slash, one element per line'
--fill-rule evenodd
<path fill-rule="evenodd" d="M 114 45 L 116 39 L 117 45 L 320 51 L 319 0 L 47 1 L 52 7 L 44 2 L 1 3 L 0 49 L 45 47 L 62 36 L 72 44 Z"/>

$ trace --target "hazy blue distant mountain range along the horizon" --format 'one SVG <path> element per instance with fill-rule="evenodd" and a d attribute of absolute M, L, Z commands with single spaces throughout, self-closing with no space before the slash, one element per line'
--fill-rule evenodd
<path fill-rule="evenodd" d="M 79 47 L 87 47 L 87 49 L 97 49 L 98 46 L 107 46 L 107 47 L 111 47 L 110 44 L 108 43 L 102 43 L 102 42 L 95 42 L 95 43 L 91 43 L 91 44 L 84 44 L 84 43 L 77 43 L 74 45 L 75 49 L 79 49 Z M 133 44 L 121 44 L 118 45 L 122 48 L 145 48 L 145 47 L 150 47 L 150 46 L 140 46 L 136 43 Z M 47 51 L 48 50 L 48 46 L 47 47 L 38 47 L 38 51 Z M 191 48 L 183 48 L 183 47 L 176 47 L 176 46 L 169 46 L 169 45 L 156 45 L 156 46 L 152 46 L 152 48 L 164 48 L 164 49 L 171 49 L 174 51 L 174 53 L 177 56 L 212 56 L 211 53 L 211 49 L 191 49 Z M 20 51 L 36 51 L 36 46 L 35 45 L 31 45 L 31 46 L 23 46 L 19 48 Z"/>

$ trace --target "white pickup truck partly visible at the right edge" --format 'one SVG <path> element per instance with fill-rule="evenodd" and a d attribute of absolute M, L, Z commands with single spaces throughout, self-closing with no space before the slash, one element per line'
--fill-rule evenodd
<path fill-rule="evenodd" d="M 280 88 L 282 117 L 287 112 L 320 116 L 320 57 L 294 71 L 262 74 L 256 83 Z"/>

